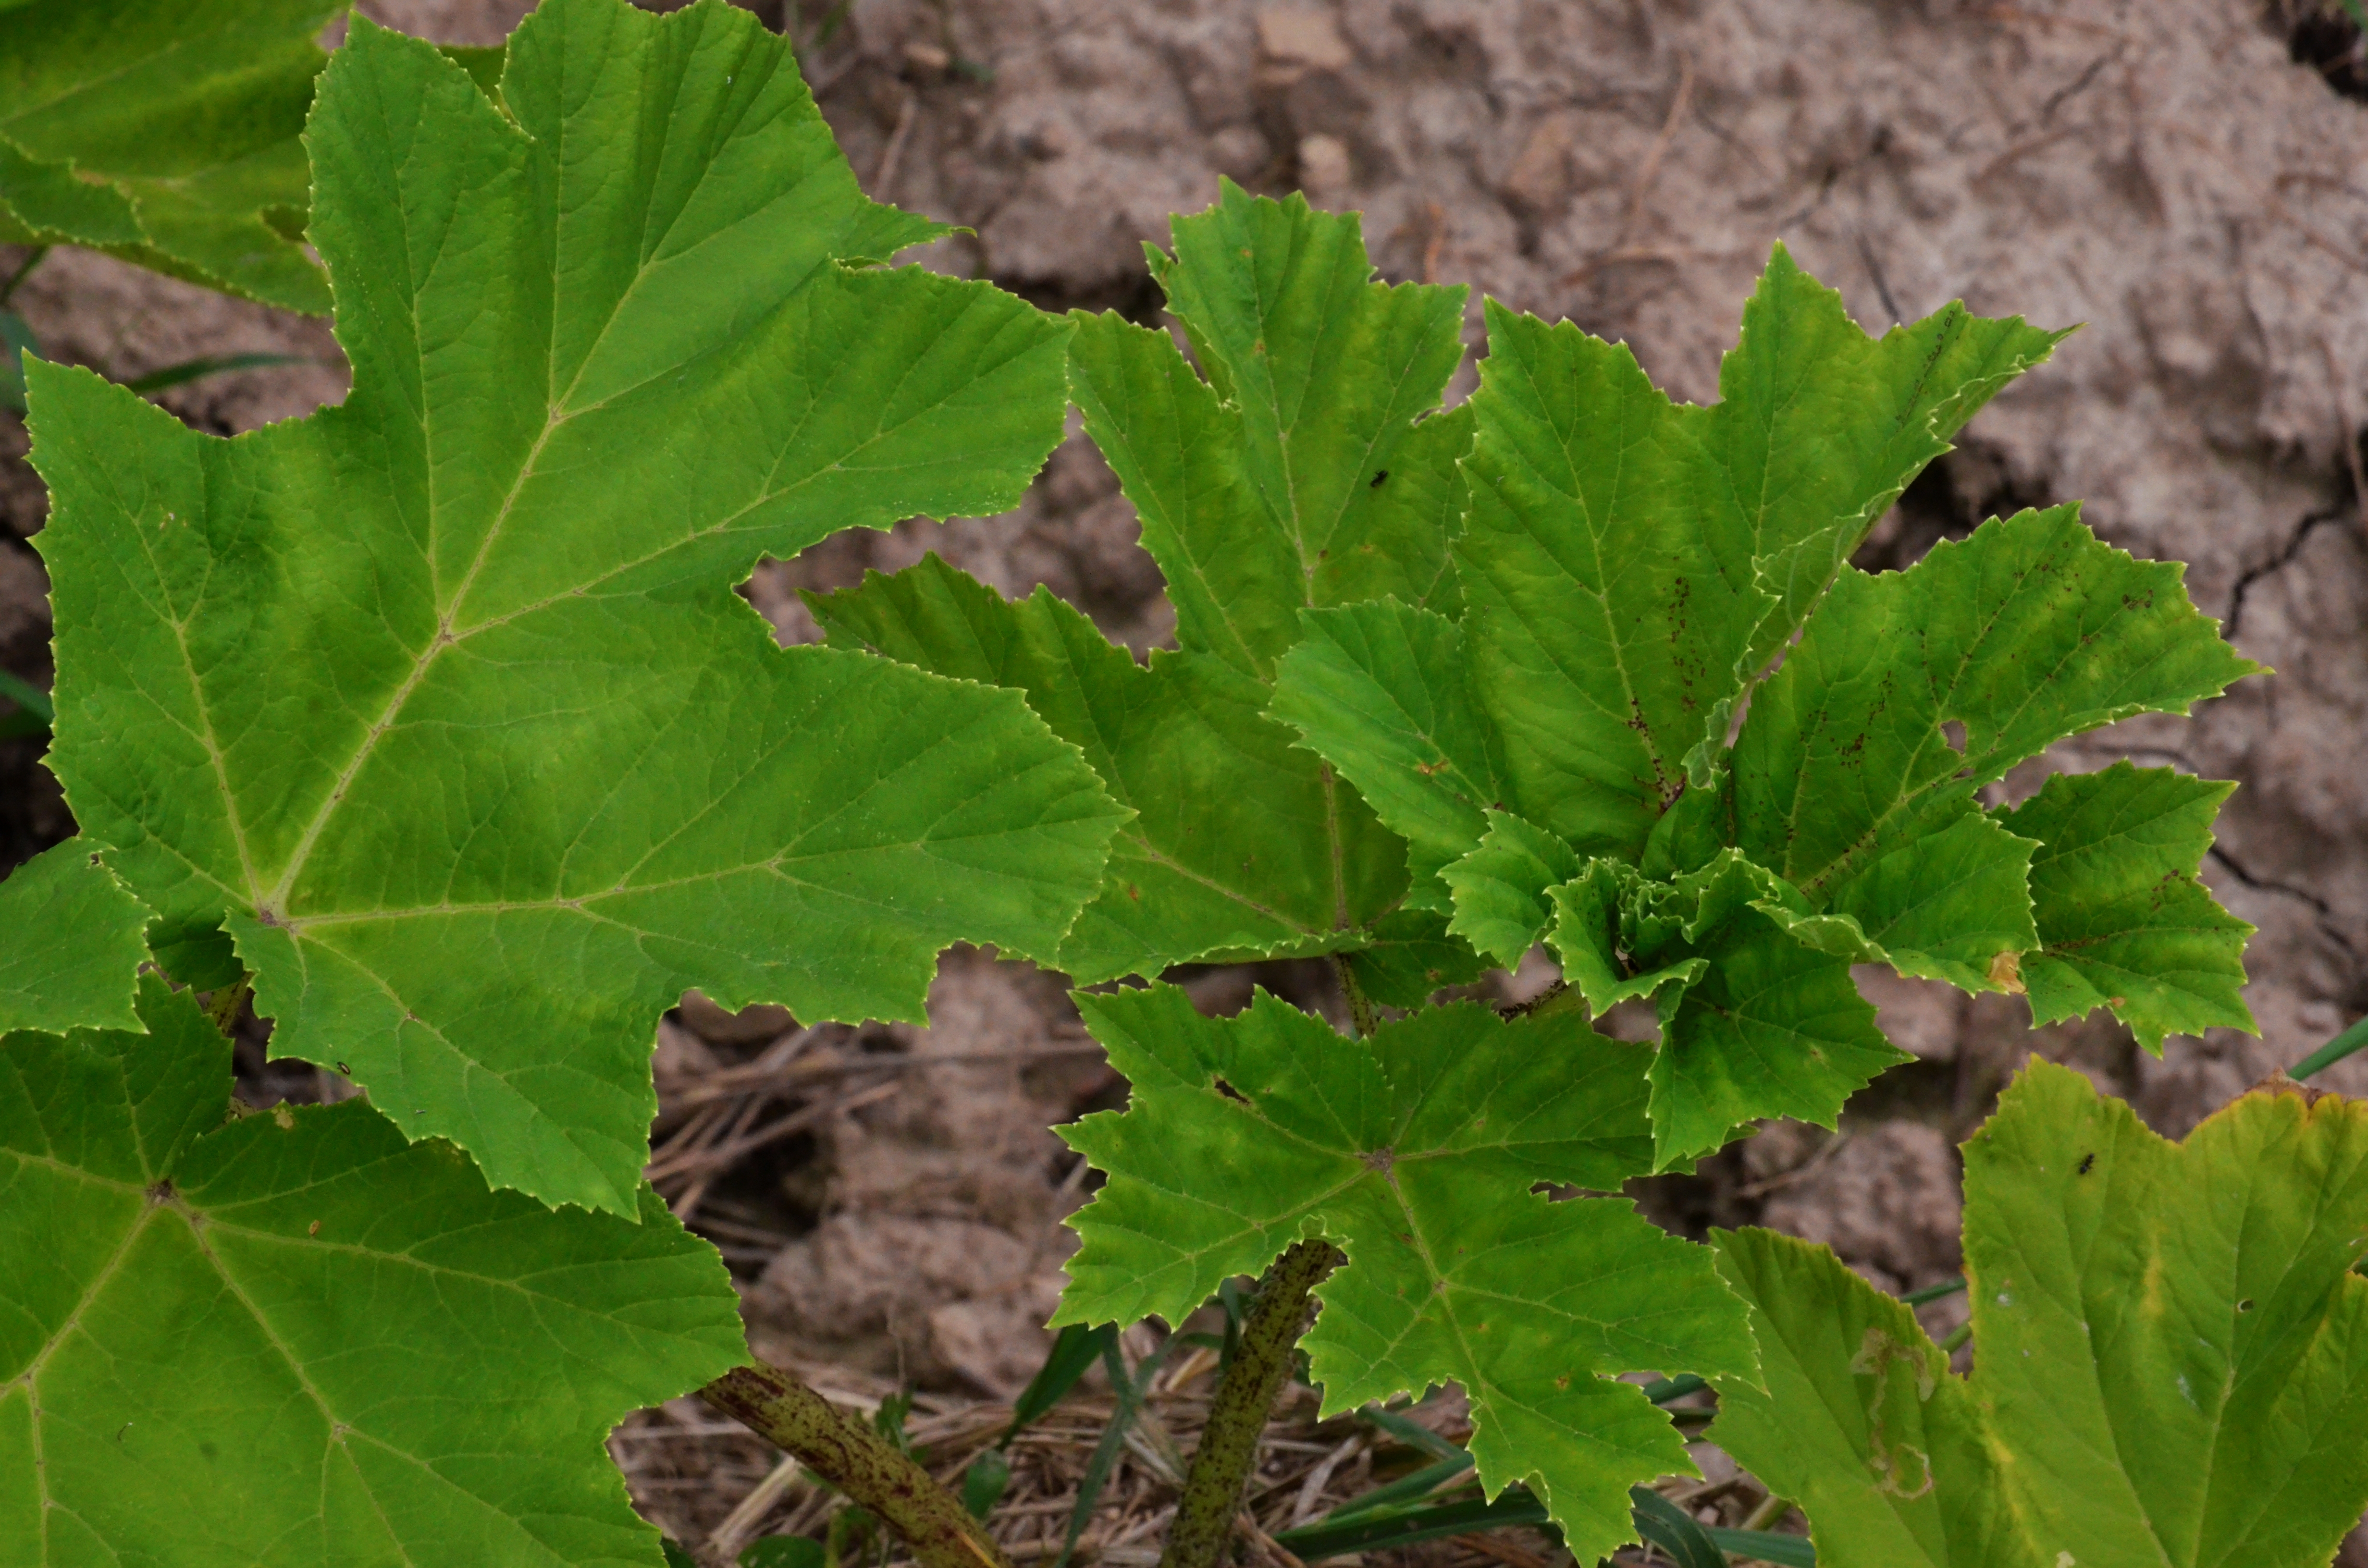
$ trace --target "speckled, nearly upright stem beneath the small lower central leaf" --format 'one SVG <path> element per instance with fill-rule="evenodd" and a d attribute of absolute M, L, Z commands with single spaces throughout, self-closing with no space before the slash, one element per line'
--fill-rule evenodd
<path fill-rule="evenodd" d="M 1257 1435 L 1267 1431 L 1274 1395 L 1291 1376 L 1291 1350 L 1307 1329 L 1307 1293 L 1347 1262 L 1331 1241 L 1293 1241 L 1257 1286 L 1257 1303 L 1241 1324 L 1234 1364 L 1217 1383 L 1208 1428 L 1193 1450 L 1177 1523 L 1167 1530 L 1160 1568 L 1217 1568 L 1241 1509 L 1241 1483 L 1257 1461 Z"/>

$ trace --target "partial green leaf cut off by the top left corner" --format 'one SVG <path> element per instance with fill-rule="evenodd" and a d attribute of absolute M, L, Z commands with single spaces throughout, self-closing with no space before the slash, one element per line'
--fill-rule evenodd
<path fill-rule="evenodd" d="M 301 144 L 346 0 L 31 0 L 0 17 L 0 244 L 83 244 L 308 315 Z"/>

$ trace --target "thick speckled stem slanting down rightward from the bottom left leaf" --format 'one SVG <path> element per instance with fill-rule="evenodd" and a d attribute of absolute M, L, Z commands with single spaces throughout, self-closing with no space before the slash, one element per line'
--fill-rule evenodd
<path fill-rule="evenodd" d="M 893 1442 L 779 1367 L 734 1367 L 699 1390 L 905 1537 L 921 1568 L 1011 1568 L 961 1499 Z"/>

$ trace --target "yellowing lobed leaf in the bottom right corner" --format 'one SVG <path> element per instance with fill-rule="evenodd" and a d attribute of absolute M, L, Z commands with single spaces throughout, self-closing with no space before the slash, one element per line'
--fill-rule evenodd
<path fill-rule="evenodd" d="M 1719 1236 L 1764 1390 L 1712 1435 L 1828 1568 L 2325 1563 L 2368 1506 L 2368 1106 L 2254 1090 L 2186 1144 L 2034 1061 L 1965 1144 L 1973 1376 L 1826 1248 Z"/>

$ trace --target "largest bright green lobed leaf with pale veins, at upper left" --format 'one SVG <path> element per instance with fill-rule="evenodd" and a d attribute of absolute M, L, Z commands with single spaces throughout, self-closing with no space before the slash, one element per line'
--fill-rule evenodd
<path fill-rule="evenodd" d="M 720 0 L 549 0 L 500 99 L 367 21 L 324 71 L 341 407 L 215 441 L 33 367 L 52 765 L 175 978 L 244 962 L 277 1054 L 630 1215 L 684 988 L 919 1018 L 942 945 L 1051 959 L 1101 886 L 1122 810 L 1016 694 L 729 592 L 1016 502 L 1068 324 L 852 265 L 940 230 Z"/>

